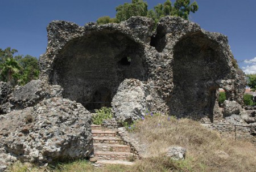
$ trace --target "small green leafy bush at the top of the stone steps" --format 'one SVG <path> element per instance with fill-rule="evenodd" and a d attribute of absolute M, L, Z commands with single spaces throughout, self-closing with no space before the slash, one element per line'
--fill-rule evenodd
<path fill-rule="evenodd" d="M 112 118 L 111 108 L 102 107 L 101 109 L 95 109 L 97 114 L 92 117 L 93 124 L 100 125 L 104 119 Z"/>

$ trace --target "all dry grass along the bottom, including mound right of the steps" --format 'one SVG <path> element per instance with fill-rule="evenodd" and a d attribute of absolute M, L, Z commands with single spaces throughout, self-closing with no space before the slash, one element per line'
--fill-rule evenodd
<path fill-rule="evenodd" d="M 97 169 L 87 161 L 76 161 L 57 165 L 54 169 L 32 169 L 18 164 L 11 171 L 256 171 L 254 145 L 222 139 L 217 132 L 189 119 L 168 120 L 168 117 L 160 115 L 146 117 L 136 124 L 134 134 L 146 145 L 146 158 L 137 161 L 134 166 L 109 165 Z M 164 156 L 171 145 L 187 148 L 185 160 L 173 161 Z"/>

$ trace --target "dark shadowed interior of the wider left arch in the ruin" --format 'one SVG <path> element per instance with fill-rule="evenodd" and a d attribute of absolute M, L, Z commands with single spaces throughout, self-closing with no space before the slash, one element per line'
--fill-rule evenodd
<path fill-rule="evenodd" d="M 88 110 L 110 106 L 126 78 L 147 80 L 143 47 L 123 33 L 101 31 L 69 41 L 53 62 L 52 84 Z"/>

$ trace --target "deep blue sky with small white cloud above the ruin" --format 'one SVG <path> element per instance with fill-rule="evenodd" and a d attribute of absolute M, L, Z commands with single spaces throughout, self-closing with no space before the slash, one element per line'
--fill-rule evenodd
<path fill-rule="evenodd" d="M 152 8 L 165 0 L 148 0 Z M 84 25 L 100 16 L 115 16 L 115 7 L 131 0 L 0 0 L 0 48 L 39 57 L 46 51 L 46 27 L 52 20 Z M 172 0 L 174 2 L 174 0 Z M 193 2 L 193 0 L 191 1 Z M 199 11 L 189 16 L 201 28 L 220 32 L 240 67 L 256 73 L 256 0 L 197 0 Z M 246 62 L 241 62 L 245 60 Z"/>

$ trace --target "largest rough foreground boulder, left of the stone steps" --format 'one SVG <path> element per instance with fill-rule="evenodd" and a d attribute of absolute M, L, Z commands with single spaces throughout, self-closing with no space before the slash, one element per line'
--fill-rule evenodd
<path fill-rule="evenodd" d="M 90 113 L 70 100 L 49 98 L 0 118 L 1 165 L 14 160 L 36 164 L 75 160 L 93 151 Z"/>

